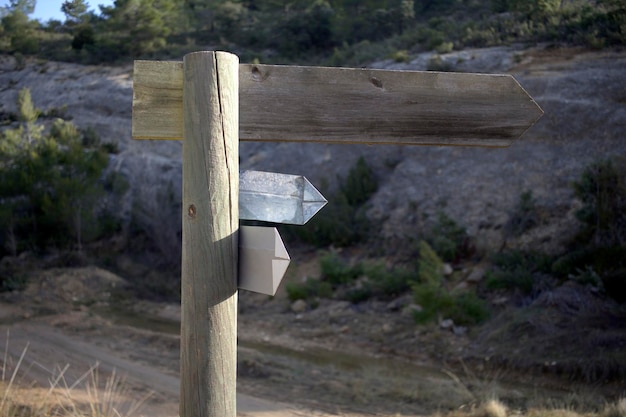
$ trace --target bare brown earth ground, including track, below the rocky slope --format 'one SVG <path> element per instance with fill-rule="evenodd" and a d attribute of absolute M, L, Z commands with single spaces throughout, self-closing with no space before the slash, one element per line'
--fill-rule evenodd
<path fill-rule="evenodd" d="M 301 254 L 301 258 L 306 256 Z M 314 273 L 311 258 L 299 263 L 290 279 Z M 126 298 L 124 280 L 96 267 L 37 271 L 31 278 L 25 291 L 5 294 L 0 302 L 0 343 L 8 348 L 9 370 L 27 346 L 18 372 L 20 386 L 47 387 L 66 365 L 64 380 L 72 384 L 98 364 L 101 379 L 114 370 L 125 379 L 129 387 L 125 395 L 131 399 L 152 393 L 142 415 L 177 415 L 178 305 Z M 569 315 L 574 310 L 601 313 L 596 308 L 599 304 L 589 305 L 587 299 L 579 300 L 586 309 L 572 307 L 569 298 L 560 304 L 552 301 L 541 303 L 568 305 L 565 313 Z M 414 416 L 469 409 L 493 397 L 518 409 L 541 404 L 571 406 L 572 398 L 589 407 L 626 394 L 623 375 L 591 383 L 569 380 L 551 371 L 555 365 L 539 370 L 531 366 L 525 372 L 496 362 L 494 353 L 490 355 L 496 365 L 489 366 L 481 338 L 494 348 L 513 349 L 513 336 L 518 337 L 518 345 L 539 347 L 537 338 L 546 333 L 536 328 L 534 332 L 518 330 L 517 335 L 500 333 L 498 343 L 495 325 L 455 334 L 435 325 L 418 328 L 410 315 L 393 310 L 382 301 L 355 305 L 320 300 L 316 308 L 295 313 L 282 290 L 274 298 L 241 293 L 239 415 Z M 622 315 L 615 315 L 616 311 Z M 614 352 L 620 352 L 626 314 L 623 309 L 611 310 L 611 314 L 616 322 L 611 330 L 604 320 L 603 340 L 611 339 L 617 344 Z M 580 312 L 574 316 L 583 317 Z M 539 327 L 537 320 L 543 320 L 554 335 L 558 326 L 554 311 L 550 317 L 536 316 L 529 322 L 535 320 Z M 585 326 L 598 323 L 599 319 L 592 320 Z M 577 332 L 582 330 L 571 331 L 570 336 L 579 337 Z M 567 339 L 568 333 L 560 334 Z M 570 337 L 570 343 L 574 342 Z M 544 345 L 544 350 L 558 353 L 554 344 Z M 586 358 L 593 352 L 577 353 Z M 80 385 L 76 391 L 81 392 Z"/>

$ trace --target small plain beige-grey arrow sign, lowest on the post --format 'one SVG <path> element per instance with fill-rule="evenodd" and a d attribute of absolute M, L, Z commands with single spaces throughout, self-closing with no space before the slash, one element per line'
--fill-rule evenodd
<path fill-rule="evenodd" d="M 239 228 L 239 288 L 274 295 L 289 266 L 289 254 L 275 227 Z"/>

